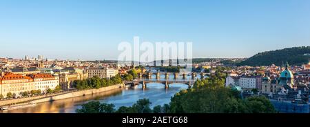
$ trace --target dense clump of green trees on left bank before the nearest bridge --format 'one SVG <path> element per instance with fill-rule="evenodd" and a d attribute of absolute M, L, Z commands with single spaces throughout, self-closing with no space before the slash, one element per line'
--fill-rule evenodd
<path fill-rule="evenodd" d="M 110 79 L 101 79 L 99 77 L 92 77 L 90 79 L 76 80 L 73 82 L 73 86 L 78 90 L 86 90 L 92 88 L 102 88 L 107 86 L 112 86 L 116 84 L 122 84 L 123 81 L 120 75 L 111 77 Z"/>

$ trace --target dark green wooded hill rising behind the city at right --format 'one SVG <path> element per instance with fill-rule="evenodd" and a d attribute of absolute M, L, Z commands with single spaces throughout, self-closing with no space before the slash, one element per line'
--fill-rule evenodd
<path fill-rule="evenodd" d="M 236 64 L 237 66 L 282 66 L 289 62 L 291 65 L 306 64 L 310 58 L 310 46 L 284 48 L 282 50 L 272 50 L 260 52 L 245 61 Z"/>

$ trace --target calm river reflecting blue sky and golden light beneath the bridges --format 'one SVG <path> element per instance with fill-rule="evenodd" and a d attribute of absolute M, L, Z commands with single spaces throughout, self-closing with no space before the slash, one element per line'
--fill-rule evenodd
<path fill-rule="evenodd" d="M 165 76 L 161 75 L 161 79 Z M 152 75 L 152 79 L 156 76 Z M 169 79 L 173 79 L 173 75 Z M 179 77 L 180 79 L 182 77 Z M 199 77 L 198 77 L 199 78 Z M 189 76 L 186 79 L 190 79 Z M 75 113 L 75 110 L 81 108 L 82 104 L 89 101 L 100 101 L 101 103 L 114 104 L 116 109 L 121 106 L 132 106 L 138 99 L 149 99 L 152 102 L 151 107 L 169 104 L 171 97 L 180 90 L 187 89 L 186 84 L 171 84 L 165 89 L 164 84 L 150 83 L 143 90 L 141 85 L 134 88 L 111 90 L 109 92 L 101 92 L 94 95 L 86 95 L 84 97 L 74 97 L 70 99 L 62 99 L 52 102 L 44 102 L 34 107 L 20 108 L 16 110 L 5 110 L 0 113 Z"/>

